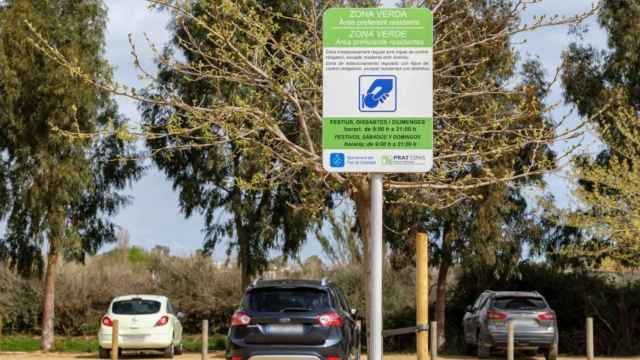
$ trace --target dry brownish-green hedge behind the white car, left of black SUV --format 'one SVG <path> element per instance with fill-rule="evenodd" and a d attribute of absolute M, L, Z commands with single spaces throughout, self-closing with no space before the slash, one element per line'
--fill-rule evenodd
<path fill-rule="evenodd" d="M 95 335 L 111 300 L 126 294 L 168 296 L 185 313 L 187 334 L 199 333 L 203 319 L 209 320 L 212 332 L 225 332 L 242 295 L 239 278 L 237 270 L 217 267 L 202 256 L 136 253 L 131 257 L 118 250 L 89 258 L 85 264 L 65 263 L 56 280 L 56 333 Z M 20 278 L 0 264 L 4 333 L 38 334 L 41 309 L 41 282 Z"/>

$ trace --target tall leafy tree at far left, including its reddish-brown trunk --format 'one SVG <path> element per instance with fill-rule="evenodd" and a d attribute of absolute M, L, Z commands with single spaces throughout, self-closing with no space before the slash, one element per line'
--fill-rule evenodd
<path fill-rule="evenodd" d="M 108 79 L 105 19 L 99 0 L 12 0 L 0 9 L 0 215 L 7 223 L 0 249 L 23 274 L 45 268 L 43 350 L 53 346 L 60 261 L 115 240 L 110 217 L 127 202 L 118 190 L 141 168 L 124 159 L 131 145 L 103 132 L 125 121 L 109 93 L 37 49 L 29 26 L 84 72 Z"/>

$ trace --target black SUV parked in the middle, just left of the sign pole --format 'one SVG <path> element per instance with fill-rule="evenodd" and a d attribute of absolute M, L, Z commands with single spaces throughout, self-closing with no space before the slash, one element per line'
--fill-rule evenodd
<path fill-rule="evenodd" d="M 231 319 L 228 360 L 360 359 L 360 326 L 327 280 L 257 281 Z"/>

